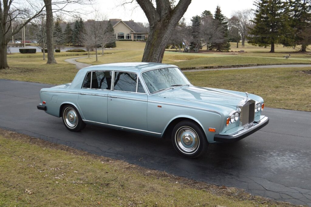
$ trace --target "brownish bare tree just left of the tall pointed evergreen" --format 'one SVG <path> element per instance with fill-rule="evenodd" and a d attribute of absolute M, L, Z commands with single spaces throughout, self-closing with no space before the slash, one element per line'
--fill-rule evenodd
<path fill-rule="evenodd" d="M 213 19 L 211 16 L 202 17 L 201 36 L 205 41 L 206 50 L 208 50 L 212 44 L 224 42 L 224 34 L 225 28 L 219 21 Z"/>

